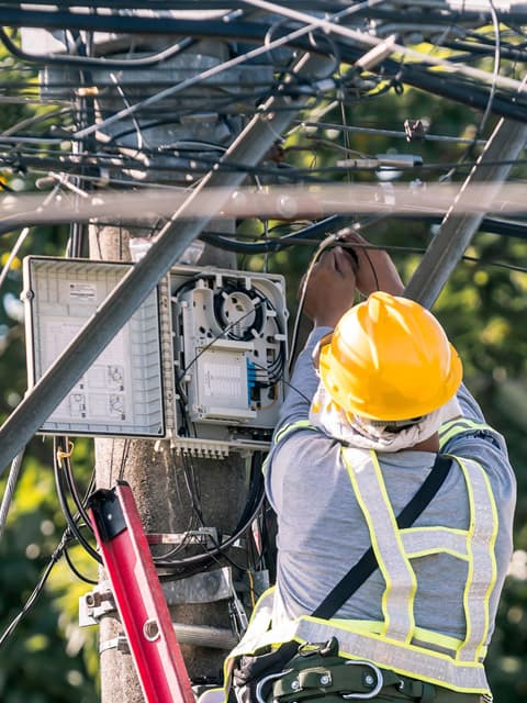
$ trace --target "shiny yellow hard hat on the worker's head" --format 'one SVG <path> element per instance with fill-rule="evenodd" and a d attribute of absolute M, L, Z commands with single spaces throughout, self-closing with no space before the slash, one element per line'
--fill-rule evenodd
<path fill-rule="evenodd" d="M 462 365 L 434 315 L 378 291 L 338 321 L 318 370 L 340 408 L 373 420 L 411 420 L 449 401 Z"/>

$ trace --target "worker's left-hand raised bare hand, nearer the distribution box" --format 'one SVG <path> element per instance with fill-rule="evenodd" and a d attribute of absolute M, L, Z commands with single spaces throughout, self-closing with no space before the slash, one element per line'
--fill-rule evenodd
<path fill-rule="evenodd" d="M 305 291 L 304 313 L 315 326 L 335 327 L 355 302 L 355 268 L 352 255 L 336 246 L 325 252 L 314 265 Z M 304 286 L 302 279 L 301 288 Z"/>

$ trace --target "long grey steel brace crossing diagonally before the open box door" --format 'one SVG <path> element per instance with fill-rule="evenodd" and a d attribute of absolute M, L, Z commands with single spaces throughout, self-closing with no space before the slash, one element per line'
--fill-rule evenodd
<path fill-rule="evenodd" d="M 317 57 L 305 54 L 298 62 L 293 72 L 314 70 L 313 64 L 317 64 L 318 60 Z M 184 249 L 218 213 L 228 194 L 223 190 L 221 196 L 211 196 L 208 212 L 193 220 L 183 221 L 181 219 L 188 207 L 205 189 L 234 189 L 239 186 L 245 179 L 240 166 L 251 167 L 266 155 L 282 131 L 295 119 L 298 111 L 304 105 L 304 100 L 280 96 L 266 102 L 226 150 L 218 167 L 208 174 L 170 217 L 144 258 L 121 280 L 96 315 L 16 406 L 0 428 L 0 476 L 159 280 L 168 274 Z M 229 169 L 229 164 L 236 165 L 236 169 Z M 224 169 L 222 166 L 227 168 Z"/>

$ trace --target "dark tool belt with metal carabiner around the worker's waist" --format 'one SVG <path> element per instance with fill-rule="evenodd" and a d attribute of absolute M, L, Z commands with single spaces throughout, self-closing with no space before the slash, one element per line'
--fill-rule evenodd
<path fill-rule="evenodd" d="M 272 655 L 264 655 L 270 657 Z M 261 670 L 261 659 L 251 657 L 259 676 L 250 678 L 251 666 L 245 661 L 243 689 L 236 690 L 238 701 L 250 703 L 343 703 L 354 700 L 378 700 L 404 703 L 484 703 L 487 699 L 474 693 L 458 693 L 441 687 L 380 669 L 370 661 L 344 659 L 338 656 L 338 641 L 333 637 L 317 648 L 300 647 L 281 671 Z M 260 665 L 260 666 L 259 666 Z M 272 667 L 271 669 L 274 669 Z M 238 669 L 239 672 L 239 669 Z M 242 681 L 238 678 L 235 688 Z M 248 688 L 247 688 L 247 684 Z M 242 695 L 240 695 L 242 693 Z"/>

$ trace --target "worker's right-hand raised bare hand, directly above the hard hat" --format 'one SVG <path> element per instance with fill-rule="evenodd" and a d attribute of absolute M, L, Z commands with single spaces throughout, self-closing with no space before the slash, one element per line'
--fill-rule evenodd
<path fill-rule="evenodd" d="M 343 238 L 348 244 L 368 244 L 355 230 L 348 230 Z M 357 290 L 362 295 L 368 297 L 375 290 L 383 290 L 392 295 L 403 294 L 403 281 L 388 252 L 363 246 L 354 247 L 354 252 L 359 263 L 356 275 Z"/>

